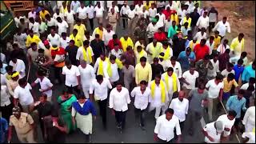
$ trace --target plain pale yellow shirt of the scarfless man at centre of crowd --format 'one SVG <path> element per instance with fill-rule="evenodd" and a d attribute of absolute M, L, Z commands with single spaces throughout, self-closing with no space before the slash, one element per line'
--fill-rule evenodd
<path fill-rule="evenodd" d="M 152 69 L 151 65 L 146 62 L 146 66 L 142 67 L 141 63 L 138 63 L 135 66 L 135 82 L 136 84 L 139 84 L 142 80 L 145 80 L 146 82 L 151 82 L 152 80 Z"/>

